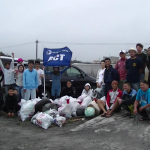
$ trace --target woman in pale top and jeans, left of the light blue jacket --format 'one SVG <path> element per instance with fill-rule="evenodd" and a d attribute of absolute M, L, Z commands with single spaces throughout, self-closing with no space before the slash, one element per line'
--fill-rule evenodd
<path fill-rule="evenodd" d="M 18 69 L 14 70 L 15 77 L 16 77 L 16 89 L 18 90 L 18 95 L 20 96 L 20 98 L 24 98 L 23 72 L 24 72 L 24 66 L 23 65 L 19 65 Z"/>

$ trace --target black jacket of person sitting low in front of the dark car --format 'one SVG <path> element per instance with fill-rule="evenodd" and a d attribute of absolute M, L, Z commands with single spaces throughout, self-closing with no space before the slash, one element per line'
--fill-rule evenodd
<path fill-rule="evenodd" d="M 63 88 L 63 90 L 62 90 L 62 92 L 61 92 L 61 96 L 71 96 L 71 97 L 76 97 L 76 89 L 75 89 L 75 87 L 70 87 L 70 88 L 68 88 L 68 87 L 64 87 Z"/>

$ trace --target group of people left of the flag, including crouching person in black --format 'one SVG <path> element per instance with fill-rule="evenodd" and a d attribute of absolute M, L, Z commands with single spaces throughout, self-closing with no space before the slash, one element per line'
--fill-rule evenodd
<path fill-rule="evenodd" d="M 44 72 L 40 69 L 39 60 L 35 62 L 29 60 L 28 68 L 25 68 L 23 59 L 19 58 L 18 64 L 15 66 L 14 53 L 12 53 L 12 62 L 6 62 L 3 65 L 0 59 L 0 68 L 4 74 L 5 84 L 5 95 L 1 96 L 0 106 L 8 116 L 14 116 L 14 113 L 20 109 L 18 103 L 21 99 L 42 98 L 42 78 Z"/>

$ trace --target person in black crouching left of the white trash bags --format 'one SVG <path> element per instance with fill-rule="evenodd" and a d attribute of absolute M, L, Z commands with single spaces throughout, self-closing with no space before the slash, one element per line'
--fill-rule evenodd
<path fill-rule="evenodd" d="M 17 103 L 17 96 L 14 94 L 14 88 L 8 88 L 8 94 L 5 96 L 5 102 L 2 110 L 7 113 L 8 117 L 13 117 L 15 112 L 20 110 L 20 105 Z"/>

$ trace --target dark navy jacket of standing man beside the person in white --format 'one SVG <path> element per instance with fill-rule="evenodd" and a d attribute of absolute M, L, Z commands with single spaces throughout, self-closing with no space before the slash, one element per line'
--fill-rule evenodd
<path fill-rule="evenodd" d="M 117 72 L 117 70 L 114 69 L 111 65 L 108 70 L 107 70 L 107 68 L 105 69 L 104 83 L 111 84 L 112 81 L 114 81 L 114 80 L 119 82 L 120 77 L 119 77 L 119 73 Z"/>

